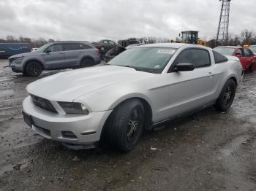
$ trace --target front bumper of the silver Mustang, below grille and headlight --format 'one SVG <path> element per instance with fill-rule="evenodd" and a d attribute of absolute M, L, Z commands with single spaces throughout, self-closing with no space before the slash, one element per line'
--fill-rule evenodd
<path fill-rule="evenodd" d="M 32 120 L 31 128 L 45 138 L 69 144 L 94 144 L 99 141 L 103 125 L 112 110 L 81 114 L 56 114 L 33 104 L 28 96 L 23 101 L 23 112 Z M 64 136 L 63 132 L 72 132 L 75 137 Z"/>

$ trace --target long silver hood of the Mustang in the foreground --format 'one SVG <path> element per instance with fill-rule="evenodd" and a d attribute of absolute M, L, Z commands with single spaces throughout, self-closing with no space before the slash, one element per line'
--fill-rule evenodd
<path fill-rule="evenodd" d="M 32 82 L 26 90 L 50 101 L 74 101 L 102 87 L 152 75 L 123 66 L 94 66 L 65 71 Z"/>

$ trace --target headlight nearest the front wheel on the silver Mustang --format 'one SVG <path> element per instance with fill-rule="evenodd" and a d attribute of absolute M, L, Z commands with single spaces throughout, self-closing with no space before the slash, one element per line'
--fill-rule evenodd
<path fill-rule="evenodd" d="M 89 114 L 89 110 L 81 103 L 58 102 L 66 114 Z"/>

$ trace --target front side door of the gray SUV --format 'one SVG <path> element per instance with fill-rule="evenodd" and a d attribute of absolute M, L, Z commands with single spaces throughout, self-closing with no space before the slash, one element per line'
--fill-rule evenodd
<path fill-rule="evenodd" d="M 65 53 L 62 44 L 53 44 L 42 55 L 47 69 L 56 69 L 65 61 Z"/>

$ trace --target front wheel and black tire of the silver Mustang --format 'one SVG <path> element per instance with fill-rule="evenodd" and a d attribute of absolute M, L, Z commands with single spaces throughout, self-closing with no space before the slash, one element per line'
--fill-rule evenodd
<path fill-rule="evenodd" d="M 118 106 L 106 127 L 107 141 L 121 152 L 134 149 L 143 133 L 144 114 L 143 104 L 137 99 Z"/>

